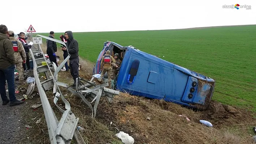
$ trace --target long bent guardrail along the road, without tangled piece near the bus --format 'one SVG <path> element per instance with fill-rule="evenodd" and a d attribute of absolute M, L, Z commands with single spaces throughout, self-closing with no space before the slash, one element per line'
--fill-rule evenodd
<path fill-rule="evenodd" d="M 37 36 L 66 46 L 66 44 L 60 40 L 52 39 L 43 35 Z M 37 84 L 38 92 L 42 102 L 51 144 L 70 144 L 72 138 L 74 138 L 74 141 L 77 144 L 85 144 L 85 141 L 82 139 L 80 132 L 76 128 L 79 118 L 76 118 L 76 116 L 72 113 L 69 102 L 63 97 L 58 86 L 66 86 L 67 84 L 57 82 L 57 73 L 60 71 L 61 67 L 64 66 L 65 62 L 68 61 L 70 54 L 68 54 L 68 57 L 60 64 L 59 67 L 57 67 L 55 63 L 50 62 L 44 56 L 40 44 L 38 44 L 38 48 L 32 47 L 30 49 L 30 53 L 33 59 L 35 83 Z M 46 62 L 46 65 L 40 65 L 43 61 Z M 51 70 L 55 71 L 54 74 L 52 74 Z M 39 73 L 44 73 L 47 80 L 40 82 Z M 53 88 L 53 92 L 56 93 L 54 97 L 54 103 L 63 113 L 60 121 L 58 121 L 55 113 L 53 112 L 50 102 L 47 99 L 46 93 L 44 92 L 44 90 L 50 90 L 51 88 Z M 57 105 L 59 98 L 61 98 L 61 100 L 64 102 L 66 110 L 61 109 Z"/>

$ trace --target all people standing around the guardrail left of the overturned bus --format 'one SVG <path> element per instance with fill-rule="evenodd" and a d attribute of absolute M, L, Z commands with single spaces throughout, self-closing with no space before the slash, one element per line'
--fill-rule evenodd
<path fill-rule="evenodd" d="M 49 37 L 55 37 L 53 31 L 50 32 Z M 70 72 L 74 79 L 71 87 L 75 87 L 76 78 L 79 77 L 78 42 L 73 38 L 72 31 L 66 31 L 64 35 L 60 36 L 60 39 L 67 45 L 67 47 L 65 45 L 61 47 L 64 59 L 70 54 L 69 66 L 66 62 L 65 70 L 68 71 L 70 67 Z M 24 103 L 24 101 L 17 100 L 15 96 L 14 70 L 15 67 L 18 70 L 19 83 L 24 83 L 24 72 L 33 71 L 29 62 L 29 49 L 31 46 L 27 44 L 24 32 L 20 32 L 18 39 L 15 39 L 13 31 L 8 31 L 7 26 L 0 25 L 0 95 L 3 101 L 2 105 L 7 105 L 9 102 L 10 106 Z M 55 52 L 57 52 L 56 43 L 47 39 L 47 54 L 49 59 L 58 66 Z M 6 81 L 8 84 L 9 99 L 6 94 Z"/>

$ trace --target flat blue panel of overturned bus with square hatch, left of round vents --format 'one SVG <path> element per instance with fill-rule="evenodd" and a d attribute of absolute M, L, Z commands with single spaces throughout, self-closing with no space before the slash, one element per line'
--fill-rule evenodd
<path fill-rule="evenodd" d="M 140 65 L 134 83 L 129 84 L 128 74 L 134 60 L 139 60 Z M 187 80 L 188 75 L 175 70 L 172 66 L 163 65 L 139 53 L 127 51 L 119 72 L 117 87 L 129 90 L 132 95 L 140 93 L 139 96 L 153 99 L 166 97 L 181 101 Z"/>

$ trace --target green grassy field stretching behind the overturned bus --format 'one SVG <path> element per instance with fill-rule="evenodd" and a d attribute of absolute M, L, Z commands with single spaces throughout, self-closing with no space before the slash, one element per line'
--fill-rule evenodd
<path fill-rule="evenodd" d="M 59 35 L 55 37 L 59 39 Z M 215 79 L 213 100 L 256 112 L 256 25 L 73 35 L 79 43 L 80 56 L 93 63 L 107 40 L 133 45 Z"/>

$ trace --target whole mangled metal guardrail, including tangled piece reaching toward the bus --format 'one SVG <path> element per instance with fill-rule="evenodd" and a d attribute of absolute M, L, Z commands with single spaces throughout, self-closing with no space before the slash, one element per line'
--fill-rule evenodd
<path fill-rule="evenodd" d="M 67 47 L 66 44 L 60 40 L 56 40 L 43 35 L 37 35 L 37 36 L 63 44 L 65 47 Z M 108 83 L 96 85 L 95 82 L 92 82 L 94 77 L 90 81 L 87 81 L 82 78 L 77 78 L 76 90 L 74 90 L 73 88 L 68 87 L 68 84 L 57 81 L 57 77 L 60 69 L 64 66 L 65 62 L 67 62 L 70 57 L 69 53 L 68 53 L 68 57 L 65 58 L 63 62 L 61 62 L 59 67 L 57 67 L 54 62 L 50 62 L 49 60 L 47 60 L 47 58 L 43 54 L 42 48 L 39 43 L 38 43 L 38 48 L 30 49 L 30 53 L 31 54 L 33 53 L 32 58 L 34 63 L 34 77 L 35 77 L 35 82 L 37 83 L 40 99 L 42 101 L 42 106 L 44 110 L 44 115 L 46 117 L 51 144 L 56 144 L 56 143 L 70 144 L 72 138 L 74 138 L 74 141 L 77 144 L 84 144 L 85 141 L 83 140 L 83 138 L 80 135 L 80 132 L 76 128 L 79 118 L 76 118 L 75 115 L 72 113 L 71 106 L 69 102 L 62 95 L 59 86 L 66 87 L 67 90 L 72 92 L 74 95 L 80 97 L 82 99 L 81 102 L 84 101 L 86 105 L 89 106 L 91 110 L 92 118 L 95 118 L 97 107 L 101 97 L 106 96 L 108 102 L 112 102 L 113 97 L 115 95 L 119 95 L 119 91 L 106 88 L 108 86 Z M 42 53 L 42 54 L 38 54 L 38 53 Z M 39 55 L 41 57 L 38 57 Z M 40 65 L 43 61 L 46 62 L 46 65 Z M 54 74 L 52 74 L 51 70 L 54 71 Z M 38 77 L 39 73 L 44 73 L 46 75 L 47 80 L 40 82 L 40 79 Z M 53 93 L 55 94 L 54 104 L 60 110 L 60 112 L 63 113 L 63 116 L 61 117 L 60 121 L 57 120 L 56 115 L 54 114 L 51 108 L 51 105 L 47 99 L 46 93 L 44 92 L 44 90 L 51 90 L 52 88 L 53 88 Z M 86 97 L 90 98 L 91 102 L 89 102 L 86 99 Z M 66 110 L 63 110 L 57 105 L 57 101 L 60 98 L 64 102 Z M 95 102 L 94 107 L 91 105 L 93 102 Z"/>

